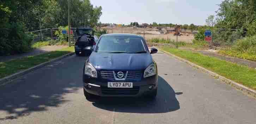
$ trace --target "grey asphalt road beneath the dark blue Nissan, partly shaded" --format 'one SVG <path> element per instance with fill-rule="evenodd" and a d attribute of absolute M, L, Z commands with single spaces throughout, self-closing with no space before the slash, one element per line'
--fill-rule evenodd
<path fill-rule="evenodd" d="M 85 99 L 85 57 L 71 56 L 0 87 L 0 124 L 255 124 L 256 99 L 162 52 L 144 98 Z M 100 100 L 99 100 L 100 99 Z"/>

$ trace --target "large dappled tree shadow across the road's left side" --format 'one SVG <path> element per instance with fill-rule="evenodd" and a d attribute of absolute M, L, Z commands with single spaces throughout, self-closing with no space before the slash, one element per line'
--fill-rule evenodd
<path fill-rule="evenodd" d="M 63 95 L 77 93 L 83 87 L 84 62 L 85 57 L 76 56 L 56 61 L 0 87 L 0 121 L 68 102 Z"/>

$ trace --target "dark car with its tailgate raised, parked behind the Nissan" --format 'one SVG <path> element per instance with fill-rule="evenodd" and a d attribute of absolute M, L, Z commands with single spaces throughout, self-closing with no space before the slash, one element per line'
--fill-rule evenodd
<path fill-rule="evenodd" d="M 77 28 L 76 33 L 79 36 L 75 42 L 75 54 L 85 54 L 88 55 L 91 53 L 91 47 L 96 45 L 96 39 L 94 36 L 94 31 L 90 27 L 86 28 Z"/>

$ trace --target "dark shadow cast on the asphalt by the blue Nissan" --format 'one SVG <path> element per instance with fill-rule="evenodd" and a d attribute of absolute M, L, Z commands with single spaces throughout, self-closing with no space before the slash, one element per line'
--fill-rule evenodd
<path fill-rule="evenodd" d="M 92 104 L 100 109 L 127 113 L 166 113 L 178 110 L 179 102 L 172 87 L 158 76 L 157 98 L 153 101 L 146 98 L 113 98 L 102 97 Z"/>

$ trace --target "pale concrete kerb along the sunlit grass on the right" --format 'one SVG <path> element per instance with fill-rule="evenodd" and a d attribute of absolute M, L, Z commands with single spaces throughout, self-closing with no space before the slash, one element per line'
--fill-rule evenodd
<path fill-rule="evenodd" d="M 176 58 L 176 59 L 178 59 L 178 60 L 180 60 L 180 61 L 183 61 L 183 62 L 189 64 L 190 66 L 195 67 L 195 68 L 197 68 L 198 70 L 203 71 L 203 72 L 207 73 L 208 75 L 213 76 L 214 78 L 223 81 L 223 82 L 226 83 L 226 84 L 233 85 L 233 86 L 236 87 L 237 89 L 242 90 L 242 91 L 245 91 L 247 94 L 250 94 L 250 95 L 256 97 L 256 91 L 250 89 L 249 87 L 246 87 L 246 86 L 244 86 L 244 85 L 242 85 L 242 84 L 238 84 L 238 83 L 236 83 L 235 81 L 232 81 L 232 80 L 227 79 L 227 78 L 225 78 L 225 77 L 223 77 L 223 76 L 220 76 L 220 75 L 217 74 L 217 73 L 214 73 L 214 72 L 212 72 L 212 71 L 209 71 L 209 70 L 207 70 L 206 68 L 203 68 L 203 67 L 201 67 L 201 66 L 199 66 L 199 65 L 196 65 L 196 64 L 194 64 L 194 63 L 191 63 L 190 61 L 185 60 L 185 59 L 183 59 L 183 58 L 177 57 L 177 56 L 175 56 L 175 55 L 173 55 L 173 54 L 171 54 L 171 53 L 169 53 L 169 52 L 166 52 L 166 51 L 161 50 L 161 49 L 159 49 L 159 48 L 158 48 L 158 50 L 163 51 L 164 53 L 169 54 L 169 55 L 171 55 L 172 57 L 174 57 L 174 58 Z"/>

